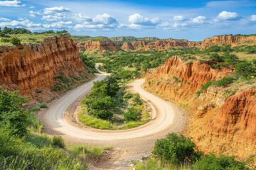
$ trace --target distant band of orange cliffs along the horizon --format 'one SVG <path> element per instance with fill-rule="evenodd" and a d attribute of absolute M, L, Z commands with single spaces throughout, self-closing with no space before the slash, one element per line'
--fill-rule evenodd
<path fill-rule="evenodd" d="M 117 43 L 112 40 L 119 41 Z M 132 41 L 130 44 L 122 41 Z M 202 47 L 208 48 L 212 45 L 231 45 L 231 47 L 240 45 L 256 45 L 256 36 L 233 36 L 233 35 L 219 35 L 212 38 L 206 38 L 203 42 L 190 42 L 188 40 L 174 40 L 158 38 L 134 38 L 134 37 L 120 37 L 110 38 L 104 41 L 75 41 L 80 47 L 80 50 L 166 50 L 172 47 Z"/>

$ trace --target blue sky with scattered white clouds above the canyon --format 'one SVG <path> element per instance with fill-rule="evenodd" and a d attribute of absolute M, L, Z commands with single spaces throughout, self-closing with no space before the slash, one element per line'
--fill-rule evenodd
<path fill-rule="evenodd" d="M 0 27 L 200 41 L 256 33 L 256 1 L 0 0 Z"/>

